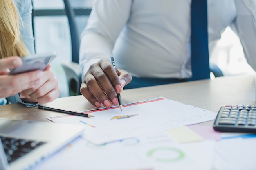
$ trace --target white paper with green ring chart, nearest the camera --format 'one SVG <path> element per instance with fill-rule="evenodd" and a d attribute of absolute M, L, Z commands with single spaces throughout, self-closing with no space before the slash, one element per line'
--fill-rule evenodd
<path fill-rule="evenodd" d="M 210 144 L 208 148 L 213 146 Z M 197 152 L 204 151 L 199 147 Z M 202 162 L 206 160 L 204 156 L 187 153 L 182 145 L 161 131 L 100 146 L 79 138 L 35 170 L 210 170 L 211 164 Z"/>

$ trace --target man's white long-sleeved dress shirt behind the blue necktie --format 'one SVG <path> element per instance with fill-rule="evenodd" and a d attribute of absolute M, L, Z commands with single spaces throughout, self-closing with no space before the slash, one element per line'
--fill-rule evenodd
<path fill-rule="evenodd" d="M 255 69 L 256 0 L 208 0 L 207 6 L 209 54 L 231 26 Z M 114 56 L 132 76 L 191 78 L 190 12 L 191 0 L 96 0 L 81 34 L 82 76 Z"/>

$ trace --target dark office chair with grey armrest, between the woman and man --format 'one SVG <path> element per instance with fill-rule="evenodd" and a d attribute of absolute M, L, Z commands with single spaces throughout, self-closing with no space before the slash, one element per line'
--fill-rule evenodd
<path fill-rule="evenodd" d="M 61 63 L 67 78 L 67 85 L 69 88 L 69 96 L 79 95 L 81 86 L 81 69 L 79 67 L 79 43 L 80 33 L 86 26 L 86 22 L 79 22 L 80 29 L 78 28 L 77 20 L 79 17 L 86 17 L 90 15 L 90 7 L 83 7 L 81 3 L 78 5 L 75 0 L 63 0 L 65 5 L 65 13 L 68 18 L 71 37 L 71 50 L 72 50 L 72 62 Z M 82 7 L 82 8 L 81 8 Z M 77 17 L 77 18 L 76 18 Z M 81 18 L 80 18 L 81 19 Z"/>

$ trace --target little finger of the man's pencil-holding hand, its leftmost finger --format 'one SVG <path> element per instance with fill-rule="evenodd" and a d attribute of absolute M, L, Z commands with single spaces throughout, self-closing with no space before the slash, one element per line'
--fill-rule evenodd
<path fill-rule="evenodd" d="M 101 102 L 95 98 L 85 83 L 81 84 L 80 92 L 95 107 L 100 108 L 102 106 Z"/>

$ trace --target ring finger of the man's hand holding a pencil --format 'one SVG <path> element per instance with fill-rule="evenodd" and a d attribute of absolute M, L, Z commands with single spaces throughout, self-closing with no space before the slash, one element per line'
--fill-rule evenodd
<path fill-rule="evenodd" d="M 112 102 L 109 100 L 108 96 L 106 96 L 106 93 L 103 92 L 103 89 L 98 84 L 92 74 L 86 75 L 83 82 L 87 85 L 87 87 L 90 89 L 92 94 L 99 100 L 99 102 L 101 102 L 105 107 L 112 106 Z"/>

